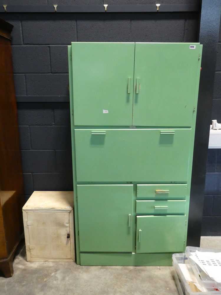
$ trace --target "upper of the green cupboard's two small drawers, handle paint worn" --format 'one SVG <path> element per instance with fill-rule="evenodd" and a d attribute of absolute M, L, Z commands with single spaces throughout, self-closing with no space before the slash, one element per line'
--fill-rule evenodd
<path fill-rule="evenodd" d="M 187 184 L 137 184 L 137 199 L 186 199 Z"/>

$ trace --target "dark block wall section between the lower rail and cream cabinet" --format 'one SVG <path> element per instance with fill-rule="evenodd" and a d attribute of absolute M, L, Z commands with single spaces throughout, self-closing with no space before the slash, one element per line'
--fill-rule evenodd
<path fill-rule="evenodd" d="M 33 190 L 71 190 L 69 103 L 18 103 L 27 197 Z"/>

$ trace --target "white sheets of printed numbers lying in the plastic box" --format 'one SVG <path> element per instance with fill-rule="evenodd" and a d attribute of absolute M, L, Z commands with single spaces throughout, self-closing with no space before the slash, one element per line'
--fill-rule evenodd
<path fill-rule="evenodd" d="M 217 283 L 221 283 L 221 252 L 200 252 L 196 250 L 188 258 L 192 259 L 204 274 Z"/>

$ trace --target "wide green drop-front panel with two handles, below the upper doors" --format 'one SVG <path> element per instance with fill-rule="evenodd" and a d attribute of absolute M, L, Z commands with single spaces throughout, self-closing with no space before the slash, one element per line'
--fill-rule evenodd
<path fill-rule="evenodd" d="M 186 182 L 191 129 L 75 129 L 77 181 Z"/>

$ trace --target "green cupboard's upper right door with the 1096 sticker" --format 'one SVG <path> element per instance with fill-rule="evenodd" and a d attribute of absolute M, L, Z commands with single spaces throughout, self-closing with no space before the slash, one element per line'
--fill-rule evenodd
<path fill-rule="evenodd" d="M 136 43 L 134 126 L 192 125 L 199 53 L 199 43 Z"/>

